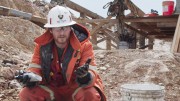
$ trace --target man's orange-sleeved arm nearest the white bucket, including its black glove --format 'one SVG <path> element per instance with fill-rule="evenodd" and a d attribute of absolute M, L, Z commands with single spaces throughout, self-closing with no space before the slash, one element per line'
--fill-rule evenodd
<path fill-rule="evenodd" d="M 96 81 L 96 63 L 95 63 L 95 57 L 94 57 L 94 51 L 92 47 L 92 43 L 90 41 L 87 41 L 82 45 L 82 52 L 81 52 L 81 59 L 80 59 L 80 67 L 77 68 L 77 71 L 79 74 L 82 74 L 84 76 L 79 76 L 77 74 L 77 83 L 80 86 L 86 86 L 90 87 L 95 84 Z M 88 59 L 91 59 L 91 62 L 88 64 L 88 70 L 86 70 L 86 62 Z"/>

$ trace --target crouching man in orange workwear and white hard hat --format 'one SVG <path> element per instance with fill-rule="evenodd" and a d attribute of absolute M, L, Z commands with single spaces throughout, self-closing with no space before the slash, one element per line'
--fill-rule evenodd
<path fill-rule="evenodd" d="M 62 6 L 48 13 L 47 31 L 35 39 L 32 63 L 18 78 L 20 101 L 106 101 L 87 29 Z"/>

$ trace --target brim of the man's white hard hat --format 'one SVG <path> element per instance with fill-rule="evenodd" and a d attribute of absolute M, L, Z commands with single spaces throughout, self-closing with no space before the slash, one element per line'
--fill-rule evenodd
<path fill-rule="evenodd" d="M 67 23 L 67 24 L 63 23 L 63 24 L 58 24 L 58 25 L 47 23 L 47 24 L 44 25 L 44 27 L 45 28 L 65 27 L 65 26 L 71 26 L 71 25 L 74 25 L 74 24 L 76 24 L 75 21 L 71 21 L 70 23 Z"/>

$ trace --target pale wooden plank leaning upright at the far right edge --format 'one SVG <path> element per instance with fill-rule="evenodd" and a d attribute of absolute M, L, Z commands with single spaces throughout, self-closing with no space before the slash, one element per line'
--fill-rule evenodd
<path fill-rule="evenodd" d="M 173 38 L 173 43 L 172 43 L 172 47 L 171 47 L 171 52 L 174 53 L 179 53 L 179 43 L 180 42 L 180 15 L 178 18 L 178 22 L 176 25 L 176 30 L 175 30 L 175 34 L 174 34 L 174 38 Z"/>

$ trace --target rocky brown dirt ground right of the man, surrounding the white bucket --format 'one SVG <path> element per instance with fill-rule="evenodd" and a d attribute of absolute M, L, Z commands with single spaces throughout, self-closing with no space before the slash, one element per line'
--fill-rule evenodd
<path fill-rule="evenodd" d="M 180 101 L 179 55 L 152 50 L 95 53 L 108 101 L 119 101 L 121 85 L 145 82 L 165 86 L 165 101 Z"/>

